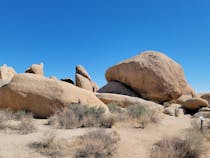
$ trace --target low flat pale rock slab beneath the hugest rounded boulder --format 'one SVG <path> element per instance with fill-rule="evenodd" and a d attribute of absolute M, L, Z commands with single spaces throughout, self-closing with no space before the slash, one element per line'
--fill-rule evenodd
<path fill-rule="evenodd" d="M 127 108 L 134 104 L 141 104 L 148 108 L 151 108 L 155 111 L 162 112 L 163 106 L 151 101 L 146 101 L 137 97 L 130 97 L 121 94 L 112 94 L 112 93 L 96 93 L 96 97 L 98 97 L 105 104 L 115 103 L 122 108 Z"/>

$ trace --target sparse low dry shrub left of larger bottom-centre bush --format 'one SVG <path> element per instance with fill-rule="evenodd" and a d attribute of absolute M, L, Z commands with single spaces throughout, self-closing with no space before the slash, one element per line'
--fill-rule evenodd
<path fill-rule="evenodd" d="M 43 133 L 39 142 L 33 142 L 29 144 L 29 147 L 48 157 L 61 157 L 63 146 L 61 143 L 57 142 L 55 138 L 55 131 L 47 130 Z"/>

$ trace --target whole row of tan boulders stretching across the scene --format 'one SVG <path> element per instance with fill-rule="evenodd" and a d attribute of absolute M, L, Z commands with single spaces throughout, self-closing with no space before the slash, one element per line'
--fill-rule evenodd
<path fill-rule="evenodd" d="M 108 83 L 100 89 L 82 65 L 76 66 L 75 82 L 69 77 L 47 78 L 43 68 L 43 63 L 33 64 L 17 74 L 13 68 L 1 66 L 0 109 L 48 117 L 71 104 L 103 107 L 107 114 L 106 104 L 122 108 L 141 104 L 178 117 L 187 110 L 208 108 L 210 102 L 210 93 L 196 96 L 181 65 L 160 52 L 146 51 L 110 67 L 105 74 Z"/>

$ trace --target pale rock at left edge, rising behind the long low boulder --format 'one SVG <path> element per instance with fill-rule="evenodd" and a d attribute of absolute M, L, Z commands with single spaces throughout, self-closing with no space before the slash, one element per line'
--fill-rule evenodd
<path fill-rule="evenodd" d="M 12 67 L 8 67 L 6 64 L 0 67 L 0 87 L 8 84 L 13 76 L 16 74 Z"/>

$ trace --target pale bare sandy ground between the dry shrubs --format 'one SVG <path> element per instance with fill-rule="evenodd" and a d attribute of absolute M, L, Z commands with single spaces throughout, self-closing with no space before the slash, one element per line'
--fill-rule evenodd
<path fill-rule="evenodd" d="M 171 117 L 164 116 L 162 121 L 149 125 L 145 129 L 134 128 L 132 124 L 120 123 L 112 130 L 120 135 L 117 158 L 149 158 L 152 145 L 166 136 L 182 135 L 191 127 L 190 116 Z M 37 131 L 28 135 L 0 131 L 0 158 L 44 158 L 28 145 L 43 138 L 43 133 L 51 129 L 46 125 L 47 120 L 34 120 Z M 91 129 L 56 130 L 56 137 L 73 140 Z M 210 147 L 210 144 L 206 144 Z M 210 157 L 210 153 L 204 157 Z"/>

